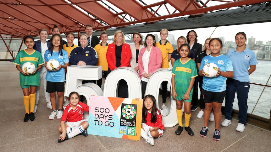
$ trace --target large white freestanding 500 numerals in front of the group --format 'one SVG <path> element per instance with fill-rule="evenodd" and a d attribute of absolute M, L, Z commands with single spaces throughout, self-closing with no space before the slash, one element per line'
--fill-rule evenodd
<path fill-rule="evenodd" d="M 102 89 L 94 83 L 82 84 L 82 80 L 99 80 L 100 78 L 102 78 L 102 66 L 68 66 L 64 95 L 68 97 L 70 92 L 78 92 L 80 95 L 86 97 L 87 105 L 90 105 L 89 97 L 91 95 L 117 97 L 118 82 L 123 79 L 128 85 L 128 97 L 141 97 L 140 77 L 136 71 L 130 67 L 119 67 L 111 71 L 105 80 L 103 87 L 104 92 L 102 92 Z M 159 87 L 163 81 L 168 81 L 171 86 L 171 71 L 169 69 L 160 68 L 156 70 L 150 77 L 146 87 L 146 94 L 152 94 L 157 99 L 157 108 L 159 108 Z M 171 99 L 168 109 L 169 112 L 167 114 L 161 110 L 163 123 L 165 127 L 173 127 L 178 123 L 175 110 L 176 101 L 174 99 Z M 87 115 L 85 118 L 88 118 Z"/>

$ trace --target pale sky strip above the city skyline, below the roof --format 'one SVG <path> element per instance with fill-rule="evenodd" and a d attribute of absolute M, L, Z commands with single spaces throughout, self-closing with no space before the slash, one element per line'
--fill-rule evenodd
<path fill-rule="evenodd" d="M 265 45 L 267 41 L 271 41 L 270 27 L 271 27 L 271 22 L 266 22 L 266 23 L 255 23 L 255 24 L 220 26 L 217 28 L 216 27 L 200 28 L 200 29 L 193 29 L 193 30 L 196 31 L 198 35 L 197 37 L 198 43 L 200 44 L 204 44 L 205 39 L 207 39 L 208 37 L 220 38 L 222 36 L 225 38 L 225 41 L 235 41 L 234 38 L 238 32 L 245 32 L 247 39 L 253 36 L 253 38 L 256 38 L 256 41 L 263 41 L 263 44 Z M 190 30 L 192 29 L 169 31 L 169 34 L 174 34 L 175 40 L 177 41 L 178 37 L 180 36 L 186 37 L 187 33 Z M 160 32 L 153 32 L 152 34 L 158 34 L 159 36 Z M 147 34 L 143 34 L 143 35 L 147 35 Z"/>

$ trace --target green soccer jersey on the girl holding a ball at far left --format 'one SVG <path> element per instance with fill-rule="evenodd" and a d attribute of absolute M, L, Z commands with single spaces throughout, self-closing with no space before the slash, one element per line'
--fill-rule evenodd
<path fill-rule="evenodd" d="M 26 62 L 33 63 L 36 66 L 36 68 L 44 64 L 40 52 L 34 50 L 31 54 L 29 54 L 25 50 L 19 51 L 13 63 L 15 65 L 19 65 L 22 68 L 22 65 Z M 20 86 L 39 85 L 39 84 L 40 84 L 40 74 L 38 71 L 32 75 L 23 75 L 20 72 Z"/>

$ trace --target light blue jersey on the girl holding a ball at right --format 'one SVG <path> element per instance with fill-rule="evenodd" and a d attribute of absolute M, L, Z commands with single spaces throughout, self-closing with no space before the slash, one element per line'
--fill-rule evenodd
<path fill-rule="evenodd" d="M 226 71 L 233 71 L 232 68 L 232 62 L 229 57 L 226 55 L 218 55 L 218 56 L 212 56 L 212 54 L 207 55 L 203 57 L 201 66 L 200 66 L 200 71 L 202 71 L 203 66 L 206 63 L 214 63 L 216 64 L 219 68 L 220 71 L 226 72 Z M 203 84 L 202 88 L 207 91 L 211 92 L 222 92 L 226 90 L 226 80 L 227 78 L 224 76 L 216 76 L 212 78 L 208 77 L 203 77 Z"/>

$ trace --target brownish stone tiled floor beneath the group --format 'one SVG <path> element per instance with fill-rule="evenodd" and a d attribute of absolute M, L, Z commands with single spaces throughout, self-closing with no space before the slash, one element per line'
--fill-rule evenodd
<path fill-rule="evenodd" d="M 140 141 L 103 136 L 75 136 L 58 143 L 57 127 L 60 120 L 48 120 L 51 109 L 46 107 L 41 90 L 36 120 L 23 122 L 23 92 L 19 86 L 19 72 L 9 61 L 0 61 L 0 151 L 267 151 L 271 149 L 271 132 L 250 124 L 245 131 L 235 131 L 237 120 L 228 127 L 220 127 L 221 140 L 213 140 L 214 122 L 209 122 L 206 138 L 199 135 L 203 118 L 196 118 L 198 110 L 192 112 L 190 126 L 195 132 L 190 136 L 186 131 L 175 135 L 178 127 L 166 127 L 164 135 L 155 139 L 155 146 Z M 41 87 L 43 88 L 43 87 Z M 224 120 L 224 116 L 222 116 Z"/>

